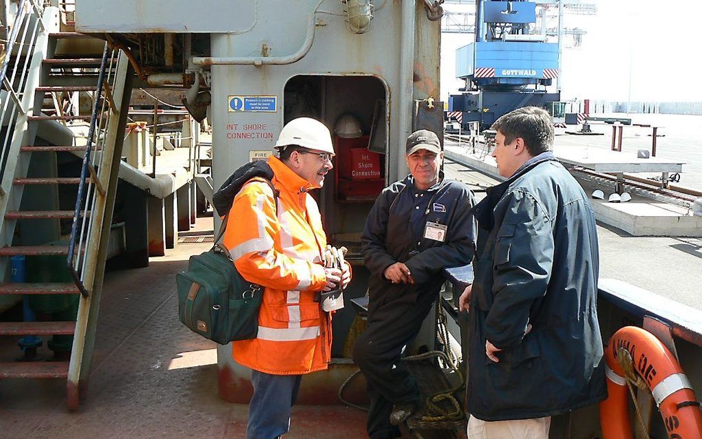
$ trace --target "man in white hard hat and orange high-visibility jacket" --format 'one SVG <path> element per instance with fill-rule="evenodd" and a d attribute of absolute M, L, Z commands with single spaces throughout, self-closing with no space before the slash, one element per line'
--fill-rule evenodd
<path fill-rule="evenodd" d="M 337 284 L 346 287 L 350 268 L 324 268 L 326 236 L 317 202 L 332 168 L 329 129 L 307 117 L 286 124 L 277 140 L 279 158 L 270 157 L 272 183 L 252 178 L 230 211 L 224 244 L 237 270 L 265 287 L 258 336 L 234 341 L 232 357 L 252 369 L 247 439 L 273 439 L 286 433 L 300 378 L 326 369 L 331 354 L 331 314 L 315 294 Z"/>

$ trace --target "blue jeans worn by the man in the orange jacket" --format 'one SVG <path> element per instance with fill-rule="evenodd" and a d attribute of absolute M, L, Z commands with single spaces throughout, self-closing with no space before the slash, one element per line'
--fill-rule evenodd
<path fill-rule="evenodd" d="M 251 371 L 253 396 L 249 402 L 246 439 L 275 439 L 290 428 L 290 407 L 295 404 L 302 375 L 272 375 Z"/>

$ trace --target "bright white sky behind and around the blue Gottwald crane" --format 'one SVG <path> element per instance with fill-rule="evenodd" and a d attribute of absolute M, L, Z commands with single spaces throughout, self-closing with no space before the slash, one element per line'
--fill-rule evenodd
<path fill-rule="evenodd" d="M 625 101 L 630 87 L 632 101 L 702 101 L 702 1 L 583 3 L 597 4 L 597 15 L 564 16 L 564 27 L 588 33 L 579 48 L 564 48 L 562 100 Z M 460 7 L 444 5 L 449 11 Z M 564 41 L 569 38 L 564 36 Z M 455 51 L 472 41 L 472 34 L 442 36 L 443 100 L 463 86 L 455 79 Z"/>

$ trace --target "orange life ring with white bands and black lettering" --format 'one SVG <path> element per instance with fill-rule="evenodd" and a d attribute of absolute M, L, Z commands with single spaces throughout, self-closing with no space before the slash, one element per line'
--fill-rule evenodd
<path fill-rule="evenodd" d="M 668 438 L 702 439 L 702 411 L 680 364 L 656 336 L 633 326 L 619 329 L 605 349 L 609 397 L 600 403 L 602 437 L 633 438 L 628 389 L 623 368 L 617 361 L 619 348 L 628 350 L 636 373 L 651 389 Z"/>

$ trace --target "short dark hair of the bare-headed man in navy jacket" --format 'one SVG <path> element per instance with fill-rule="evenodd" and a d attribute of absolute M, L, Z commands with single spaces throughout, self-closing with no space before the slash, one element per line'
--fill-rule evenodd
<path fill-rule="evenodd" d="M 505 136 L 505 145 L 523 138 L 531 157 L 553 150 L 553 122 L 541 108 L 517 108 L 497 119 L 491 128 Z"/>

